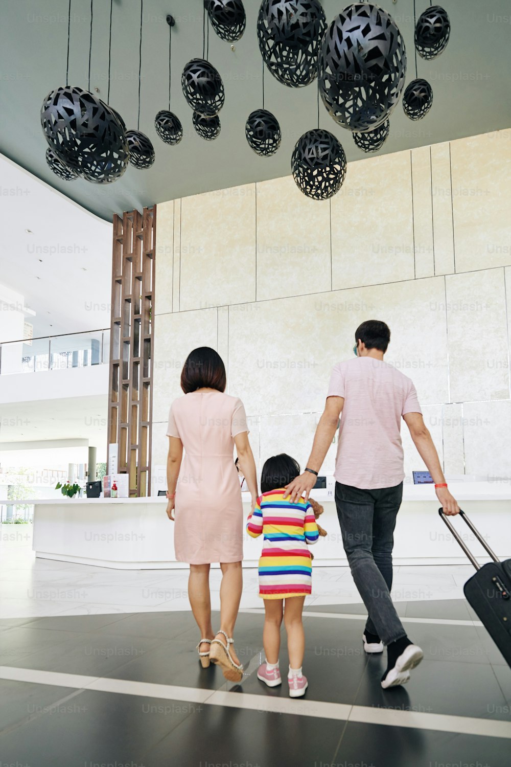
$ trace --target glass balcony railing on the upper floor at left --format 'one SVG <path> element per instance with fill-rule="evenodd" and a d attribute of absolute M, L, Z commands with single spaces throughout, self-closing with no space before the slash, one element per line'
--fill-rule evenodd
<path fill-rule="evenodd" d="M 106 364 L 110 357 L 110 328 L 4 341 L 0 344 L 0 374 L 40 373 Z"/>

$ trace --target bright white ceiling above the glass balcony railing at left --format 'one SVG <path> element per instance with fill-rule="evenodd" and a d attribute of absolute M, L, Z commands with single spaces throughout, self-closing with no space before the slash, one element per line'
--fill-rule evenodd
<path fill-rule="evenodd" d="M 111 225 L 2 155 L 0 189 L 0 283 L 35 312 L 34 337 L 110 328 Z"/>

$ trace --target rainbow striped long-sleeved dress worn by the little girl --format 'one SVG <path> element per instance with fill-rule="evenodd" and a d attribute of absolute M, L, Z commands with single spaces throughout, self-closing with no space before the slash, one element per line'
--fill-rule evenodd
<path fill-rule="evenodd" d="M 285 490 L 270 490 L 257 499 L 248 518 L 252 538 L 263 533 L 259 560 L 259 596 L 263 599 L 303 597 L 312 588 L 312 560 L 307 547 L 319 533 L 313 507 L 303 498 L 284 500 Z"/>

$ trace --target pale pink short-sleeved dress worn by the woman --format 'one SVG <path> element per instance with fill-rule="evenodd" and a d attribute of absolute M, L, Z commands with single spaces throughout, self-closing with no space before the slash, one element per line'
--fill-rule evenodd
<path fill-rule="evenodd" d="M 243 403 L 194 391 L 170 407 L 169 436 L 185 448 L 175 492 L 175 557 L 189 565 L 243 559 L 243 506 L 234 436 L 247 432 Z"/>

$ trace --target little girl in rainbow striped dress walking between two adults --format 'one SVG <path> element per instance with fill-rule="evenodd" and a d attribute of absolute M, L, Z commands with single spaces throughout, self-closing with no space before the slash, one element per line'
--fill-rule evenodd
<path fill-rule="evenodd" d="M 283 617 L 290 659 L 287 681 L 292 698 L 303 696 L 307 688 L 307 679 L 302 673 L 303 602 L 312 584 L 312 561 L 307 544 L 316 543 L 319 535 L 310 503 L 303 498 L 296 503 L 285 499 L 285 487 L 299 474 L 300 466 L 286 453 L 267 459 L 260 478 L 262 495 L 247 522 L 248 535 L 257 538 L 263 533 L 264 538 L 259 560 L 259 596 L 264 599 L 266 663 L 257 670 L 257 679 L 269 687 L 282 681 L 279 649 Z"/>

